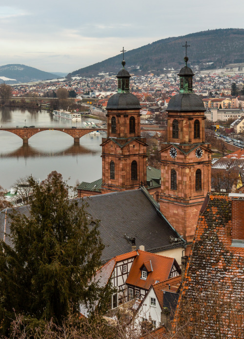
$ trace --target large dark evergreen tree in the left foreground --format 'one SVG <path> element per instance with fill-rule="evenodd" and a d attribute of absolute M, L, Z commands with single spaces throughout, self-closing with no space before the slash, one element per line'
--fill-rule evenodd
<path fill-rule="evenodd" d="M 79 315 L 82 301 L 101 299 L 102 309 L 111 293 L 110 284 L 100 288 L 91 280 L 104 248 L 99 221 L 87 214 L 85 203 L 79 207 L 69 199 L 69 186 L 56 171 L 41 185 L 32 177 L 29 183 L 29 208 L 10 213 L 13 248 L 0 242 L 2 334 L 15 318 L 13 310 L 36 321 L 61 323 L 69 314 Z"/>

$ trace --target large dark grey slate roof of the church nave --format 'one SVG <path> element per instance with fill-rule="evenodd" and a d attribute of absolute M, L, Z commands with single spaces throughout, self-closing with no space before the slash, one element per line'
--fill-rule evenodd
<path fill-rule="evenodd" d="M 133 238 L 136 239 L 137 248 L 144 245 L 145 250 L 150 252 L 183 246 L 183 244 L 172 245 L 170 236 L 179 238 L 179 234 L 166 221 L 156 208 L 157 203 L 152 203 L 152 197 L 149 195 L 149 199 L 148 195 L 146 190 L 138 189 L 84 199 L 89 204 L 88 213 L 94 219 L 101 220 L 100 232 L 105 245 L 103 261 L 131 251 Z M 78 201 L 82 203 L 82 199 Z M 28 215 L 28 206 L 19 208 L 21 213 Z M 1 239 L 4 234 L 4 218 L 5 213 L 0 213 Z M 8 223 L 6 233 L 9 234 Z"/>

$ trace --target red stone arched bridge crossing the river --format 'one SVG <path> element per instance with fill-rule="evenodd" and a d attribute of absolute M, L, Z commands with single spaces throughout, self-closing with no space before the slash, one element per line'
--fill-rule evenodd
<path fill-rule="evenodd" d="M 1 127 L 0 131 L 7 131 L 17 136 L 23 140 L 23 144 L 28 144 L 28 140 L 31 136 L 34 136 L 37 133 L 42 131 L 60 131 L 72 136 L 74 138 L 74 143 L 80 143 L 81 136 L 84 136 L 87 133 L 94 131 L 107 131 L 105 128 L 72 128 L 72 127 L 27 127 L 27 128 L 17 128 L 17 127 Z"/>

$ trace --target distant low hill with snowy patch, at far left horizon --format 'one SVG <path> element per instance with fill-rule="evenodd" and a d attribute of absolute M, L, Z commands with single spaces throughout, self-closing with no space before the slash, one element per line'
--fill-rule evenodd
<path fill-rule="evenodd" d="M 0 83 L 7 84 L 56 79 L 57 75 L 25 65 L 11 64 L 0 66 Z M 8 79 L 8 80 L 7 80 Z"/>

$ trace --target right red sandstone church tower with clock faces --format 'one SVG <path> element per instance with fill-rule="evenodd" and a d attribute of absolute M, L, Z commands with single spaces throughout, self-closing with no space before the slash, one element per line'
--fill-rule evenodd
<path fill-rule="evenodd" d="M 186 44 L 187 45 L 187 44 Z M 161 150 L 160 211 L 187 243 L 193 240 L 199 212 L 211 191 L 211 145 L 204 139 L 202 99 L 193 93 L 191 68 L 178 74 L 180 93 L 167 107 L 167 142 Z"/>

